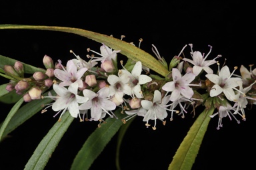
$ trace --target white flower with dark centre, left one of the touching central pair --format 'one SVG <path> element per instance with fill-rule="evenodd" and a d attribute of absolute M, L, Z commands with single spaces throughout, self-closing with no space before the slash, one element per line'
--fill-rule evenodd
<path fill-rule="evenodd" d="M 109 75 L 107 77 L 107 82 L 109 82 L 110 86 L 110 96 L 115 96 L 118 102 L 123 102 L 123 95 L 127 94 L 131 96 L 131 86 L 129 86 L 129 74 L 127 72 L 122 72 L 119 70 L 118 76 Z"/>

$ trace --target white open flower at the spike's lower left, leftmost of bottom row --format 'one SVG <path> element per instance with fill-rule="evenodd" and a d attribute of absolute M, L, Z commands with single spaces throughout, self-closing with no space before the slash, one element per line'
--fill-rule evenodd
<path fill-rule="evenodd" d="M 56 112 L 63 110 L 61 116 L 66 112 L 66 110 L 69 110 L 71 116 L 77 118 L 77 116 L 79 115 L 79 104 L 83 104 L 88 101 L 87 97 L 79 96 L 77 94 L 79 81 L 82 80 L 77 80 L 76 82 L 73 82 L 69 86 L 69 88 L 59 86 L 58 84 L 53 84 L 53 90 L 57 93 L 58 96 L 55 97 L 56 100 L 53 103 L 52 109 Z M 61 116 L 59 117 L 59 119 L 61 119 Z"/>

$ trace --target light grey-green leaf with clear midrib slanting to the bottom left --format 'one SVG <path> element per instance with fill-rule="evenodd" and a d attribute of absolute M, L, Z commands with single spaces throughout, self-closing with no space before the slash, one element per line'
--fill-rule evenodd
<path fill-rule="evenodd" d="M 73 120 L 74 118 L 70 116 L 69 112 L 66 112 L 61 117 L 61 122 L 56 122 L 35 149 L 27 165 L 25 165 L 25 170 L 45 169 L 45 165 Z"/>

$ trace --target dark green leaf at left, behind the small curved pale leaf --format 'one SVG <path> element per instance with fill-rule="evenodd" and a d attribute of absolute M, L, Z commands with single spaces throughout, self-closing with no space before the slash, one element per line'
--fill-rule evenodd
<path fill-rule="evenodd" d="M 55 94 L 53 90 L 50 91 L 51 94 Z M 45 94 L 44 94 L 45 96 Z M 51 98 L 43 98 L 41 100 L 32 100 L 31 102 L 23 105 L 17 113 L 11 118 L 7 127 L 5 127 L 5 131 L 3 131 L 3 136 L 11 133 L 14 129 L 21 126 L 25 121 L 29 120 L 33 115 L 40 112 L 43 109 L 45 104 L 49 104 L 53 101 Z M 0 127 L 3 126 L 3 123 L 0 124 Z"/>

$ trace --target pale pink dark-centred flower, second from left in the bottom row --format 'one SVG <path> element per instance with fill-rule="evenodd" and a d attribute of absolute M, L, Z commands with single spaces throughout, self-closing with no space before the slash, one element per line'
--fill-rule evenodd
<path fill-rule="evenodd" d="M 97 93 L 85 89 L 83 90 L 83 96 L 89 98 L 88 102 L 81 104 L 79 110 L 91 110 L 91 120 L 98 121 L 102 117 L 103 112 L 109 114 L 109 111 L 115 110 L 116 106 L 114 102 L 111 102 L 108 98 L 109 88 L 101 88 Z M 113 114 L 109 114 L 111 118 Z"/>

